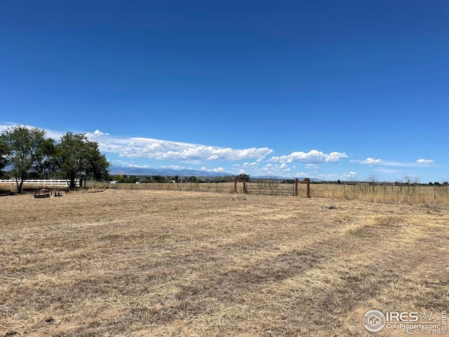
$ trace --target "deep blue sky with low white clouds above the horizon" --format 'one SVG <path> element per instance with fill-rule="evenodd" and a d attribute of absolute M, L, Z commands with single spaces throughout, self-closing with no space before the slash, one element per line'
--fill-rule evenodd
<path fill-rule="evenodd" d="M 449 180 L 449 1 L 0 1 L 0 130 L 116 166 Z"/>

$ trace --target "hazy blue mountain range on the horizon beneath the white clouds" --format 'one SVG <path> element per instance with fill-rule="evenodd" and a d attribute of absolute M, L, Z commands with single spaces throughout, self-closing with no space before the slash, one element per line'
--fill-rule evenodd
<path fill-rule="evenodd" d="M 234 173 L 229 172 L 208 172 L 200 170 L 189 169 L 152 169 L 150 167 L 132 167 L 132 166 L 111 166 L 110 174 L 126 174 L 130 176 L 180 176 L 180 177 L 208 177 L 213 178 L 217 176 L 235 176 Z M 296 177 L 279 177 L 279 176 L 250 176 L 250 178 L 259 179 L 295 179 Z M 297 177 L 304 179 L 304 177 Z M 316 180 L 316 179 L 311 179 Z"/>

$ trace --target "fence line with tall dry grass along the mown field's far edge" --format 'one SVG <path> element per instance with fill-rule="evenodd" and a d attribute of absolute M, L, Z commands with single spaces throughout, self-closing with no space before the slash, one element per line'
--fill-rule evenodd
<path fill-rule="evenodd" d="M 0 180 L 0 184 L 15 189 L 14 179 Z M 77 184 L 79 185 L 79 184 Z M 66 187 L 64 179 L 30 179 L 25 180 L 24 187 Z M 85 187 L 93 189 L 111 190 L 171 190 L 171 191 L 197 191 L 234 193 L 234 183 L 110 183 L 109 181 L 97 182 L 87 180 Z M 294 196 L 294 183 L 281 183 L 280 180 L 251 180 L 246 183 L 246 191 L 243 184 L 238 184 L 236 193 L 243 194 L 267 194 L 280 196 Z M 298 195 L 306 197 L 307 186 L 298 185 Z M 345 200 L 363 200 L 372 202 L 425 204 L 438 203 L 449 204 L 449 186 L 422 186 L 422 185 L 365 185 L 365 184 L 311 184 L 310 196 L 312 198 L 330 198 Z"/>

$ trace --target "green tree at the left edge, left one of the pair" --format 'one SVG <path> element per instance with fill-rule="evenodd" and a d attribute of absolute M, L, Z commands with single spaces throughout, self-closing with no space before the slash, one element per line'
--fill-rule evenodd
<path fill-rule="evenodd" d="M 0 135 L 2 162 L 11 165 L 19 193 L 29 176 L 51 169 L 55 141 L 45 135 L 39 128 L 20 125 L 7 128 Z"/>

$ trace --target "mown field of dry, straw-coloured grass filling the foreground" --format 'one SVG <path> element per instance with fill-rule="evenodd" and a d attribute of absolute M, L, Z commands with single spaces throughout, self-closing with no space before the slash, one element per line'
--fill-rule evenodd
<path fill-rule="evenodd" d="M 0 230 L 0 336 L 410 336 L 363 315 L 449 310 L 445 204 L 23 194 Z"/>

